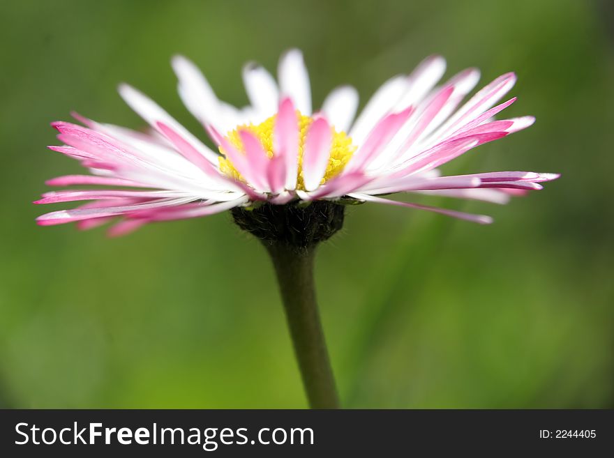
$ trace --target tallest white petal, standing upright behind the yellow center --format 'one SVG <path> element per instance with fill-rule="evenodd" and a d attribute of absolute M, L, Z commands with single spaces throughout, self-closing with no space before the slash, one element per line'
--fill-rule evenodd
<path fill-rule="evenodd" d="M 282 97 L 290 97 L 301 114 L 311 114 L 311 86 L 303 54 L 290 49 L 280 57 L 279 88 Z"/>

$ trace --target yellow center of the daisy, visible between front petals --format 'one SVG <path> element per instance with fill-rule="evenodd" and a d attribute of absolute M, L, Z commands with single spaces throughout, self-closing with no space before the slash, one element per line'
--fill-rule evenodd
<path fill-rule="evenodd" d="M 271 116 L 270 118 L 266 119 L 258 125 L 239 125 L 236 129 L 228 132 L 226 138 L 235 148 L 244 153 L 245 148 L 243 146 L 243 142 L 241 142 L 239 131 L 248 130 L 249 132 L 253 133 L 253 135 L 255 135 L 257 139 L 260 140 L 260 143 L 262 144 L 264 151 L 266 151 L 267 156 L 269 156 L 269 158 L 272 158 L 274 155 L 273 130 L 275 126 L 276 117 L 277 115 Z M 297 189 L 304 190 L 305 185 L 303 182 L 303 151 L 307 130 L 313 122 L 313 118 L 311 118 L 310 116 L 304 116 L 298 111 L 297 118 L 299 121 L 299 173 L 297 175 Z M 343 170 L 343 167 L 345 167 L 345 165 L 347 164 L 347 161 L 350 160 L 352 154 L 354 154 L 354 151 L 356 151 L 356 146 L 352 145 L 352 139 L 348 137 L 345 132 L 337 132 L 334 127 L 331 127 L 331 132 L 332 141 L 329 162 L 327 164 L 324 177 L 322 177 L 322 181 L 320 181 L 320 184 L 324 184 L 326 181 L 338 175 L 340 171 Z M 222 153 L 222 155 L 219 157 L 220 171 L 236 180 L 245 181 L 241 174 L 239 174 L 239 171 L 234 168 L 232 162 L 228 158 L 226 158 L 223 148 L 220 147 L 219 149 L 220 153 Z"/>

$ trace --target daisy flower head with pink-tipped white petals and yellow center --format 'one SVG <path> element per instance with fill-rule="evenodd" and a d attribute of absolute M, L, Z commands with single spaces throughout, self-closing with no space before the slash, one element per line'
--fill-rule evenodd
<path fill-rule="evenodd" d="M 121 96 L 151 131 L 77 114 L 85 127 L 52 123 L 64 145 L 50 148 L 79 160 L 90 174 L 60 176 L 47 184 L 103 188 L 43 194 L 37 204 L 89 203 L 42 215 L 38 224 L 77 222 L 87 229 L 120 217 L 110 229 L 119 235 L 147 222 L 315 201 L 373 201 L 488 223 L 491 218 L 484 215 L 382 196 L 410 192 L 504 203 L 510 195 L 539 190 L 539 183 L 558 176 L 531 171 L 440 176 L 437 171 L 470 149 L 534 122 L 532 116 L 493 120 L 516 100 L 495 106 L 514 85 L 513 73 L 498 77 L 461 105 L 479 71 L 465 70 L 436 86 L 445 62 L 429 57 L 410 75 L 385 82 L 354 120 L 358 95 L 350 86 L 331 91 L 320 111 L 312 112 L 308 73 L 296 49 L 280 59 L 277 82 L 253 63 L 244 68 L 250 105 L 243 108 L 218 100 L 207 79 L 184 57 L 175 57 L 172 65 L 181 99 L 218 151 L 147 96 L 122 84 Z M 235 219 L 239 213 L 234 211 Z"/>

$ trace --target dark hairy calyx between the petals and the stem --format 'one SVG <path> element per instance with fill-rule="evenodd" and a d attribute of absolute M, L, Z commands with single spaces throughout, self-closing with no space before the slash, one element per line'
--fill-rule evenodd
<path fill-rule="evenodd" d="M 331 201 L 314 201 L 307 206 L 264 204 L 256 208 L 232 208 L 241 229 L 265 245 L 284 244 L 307 250 L 327 240 L 343 227 L 345 206 Z"/>

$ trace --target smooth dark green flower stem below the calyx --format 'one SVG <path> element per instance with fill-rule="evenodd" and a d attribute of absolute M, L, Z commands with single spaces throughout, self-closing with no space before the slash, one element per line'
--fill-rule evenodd
<path fill-rule="evenodd" d="M 339 400 L 315 300 L 315 245 L 297 250 L 287 243 L 265 243 L 271 255 L 294 353 L 311 409 L 338 409 Z"/>

